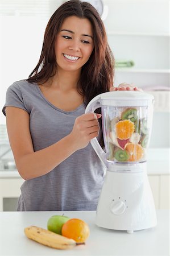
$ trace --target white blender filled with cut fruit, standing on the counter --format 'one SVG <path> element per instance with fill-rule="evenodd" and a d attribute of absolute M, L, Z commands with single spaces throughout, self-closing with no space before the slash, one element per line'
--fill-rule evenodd
<path fill-rule="evenodd" d="M 85 113 L 101 108 L 105 151 L 97 138 L 90 142 L 106 167 L 96 211 L 96 225 L 114 230 L 156 226 L 154 199 L 147 176 L 154 97 L 135 91 L 99 94 Z"/>

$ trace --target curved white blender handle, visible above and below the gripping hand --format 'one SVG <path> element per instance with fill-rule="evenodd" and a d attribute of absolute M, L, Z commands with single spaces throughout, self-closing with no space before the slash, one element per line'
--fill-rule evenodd
<path fill-rule="evenodd" d="M 101 108 L 101 94 L 94 97 L 89 104 L 86 106 L 85 114 L 86 113 L 94 113 L 94 110 Z M 100 144 L 97 141 L 97 138 L 91 139 L 90 143 L 92 144 L 92 147 L 94 148 L 94 151 L 96 151 L 96 154 L 98 155 L 101 162 L 106 166 L 106 153 L 100 146 Z"/>

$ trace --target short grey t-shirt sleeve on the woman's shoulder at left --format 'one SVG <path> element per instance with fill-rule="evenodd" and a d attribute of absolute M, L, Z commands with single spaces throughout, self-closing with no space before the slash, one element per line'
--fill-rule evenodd
<path fill-rule="evenodd" d="M 23 109 L 28 112 L 28 110 L 26 109 L 26 106 L 24 105 L 22 92 L 17 82 L 14 82 L 14 84 L 10 85 L 9 88 L 7 89 L 6 102 L 2 109 L 2 112 L 4 115 L 6 115 L 6 112 L 5 112 L 6 106 L 14 106 L 16 108 Z"/>

